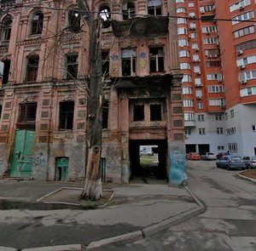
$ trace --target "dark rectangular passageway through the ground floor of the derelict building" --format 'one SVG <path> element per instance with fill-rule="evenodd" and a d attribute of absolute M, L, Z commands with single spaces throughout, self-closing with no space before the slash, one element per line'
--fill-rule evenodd
<path fill-rule="evenodd" d="M 167 182 L 166 140 L 130 140 L 131 183 Z"/>

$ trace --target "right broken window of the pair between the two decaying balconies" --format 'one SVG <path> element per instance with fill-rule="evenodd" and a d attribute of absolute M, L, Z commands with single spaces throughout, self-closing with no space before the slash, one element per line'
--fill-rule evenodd
<path fill-rule="evenodd" d="M 149 71 L 165 71 L 164 48 L 149 48 Z"/>

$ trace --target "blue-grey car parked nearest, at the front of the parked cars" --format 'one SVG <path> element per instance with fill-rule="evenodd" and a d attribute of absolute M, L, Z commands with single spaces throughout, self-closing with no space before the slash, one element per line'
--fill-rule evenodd
<path fill-rule="evenodd" d="M 245 169 L 246 163 L 243 161 L 240 156 L 230 156 L 224 155 L 223 157 L 218 158 L 216 161 L 217 168 L 227 168 L 230 169 Z"/>

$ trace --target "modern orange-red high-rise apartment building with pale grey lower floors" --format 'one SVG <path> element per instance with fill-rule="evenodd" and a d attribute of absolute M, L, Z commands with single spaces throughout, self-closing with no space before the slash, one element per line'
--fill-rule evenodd
<path fill-rule="evenodd" d="M 255 0 L 176 0 L 186 151 L 256 155 Z"/>

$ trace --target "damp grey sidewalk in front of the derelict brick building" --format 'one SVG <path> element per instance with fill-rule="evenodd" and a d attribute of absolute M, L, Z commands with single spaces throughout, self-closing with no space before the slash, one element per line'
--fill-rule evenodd
<path fill-rule="evenodd" d="M 47 197 L 47 195 L 55 195 L 56 200 L 61 187 L 66 187 L 65 191 L 69 191 L 70 193 L 82 189 L 83 184 L 73 182 L 1 180 L 0 208 L 4 208 L 4 205 L 11 205 L 15 208 L 30 208 L 30 205 L 42 205 L 42 201 L 38 203 L 38 199 Z M 39 224 L 43 227 L 58 226 L 58 229 L 61 229 L 61 227 L 64 229 L 67 225 L 69 226 L 69 228 L 65 228 L 65 233 L 70 237 L 70 239 L 67 237 L 67 242 L 61 243 L 56 241 L 53 247 L 52 243 L 48 242 L 48 238 L 45 236 L 45 247 L 38 248 L 42 247 L 42 244 L 37 245 L 36 231 L 32 231 L 35 234 L 35 237 L 33 237 L 34 242 L 30 240 L 31 245 L 26 246 L 28 244 L 25 242 L 26 236 L 24 236 L 23 240 L 20 240 L 19 246 L 22 251 L 91 250 L 113 242 L 129 242 L 148 237 L 178 221 L 185 220 L 192 215 L 200 214 L 204 211 L 203 205 L 189 191 L 188 187 L 178 188 L 167 184 L 111 184 L 103 185 L 103 189 L 113 191 L 113 197 L 111 197 L 108 205 L 104 208 L 83 210 L 79 207 L 73 208 L 70 205 L 73 208 L 71 210 L 67 209 L 69 206 L 66 205 L 66 209 L 62 208 L 60 210 L 45 210 L 44 207 L 42 209 L 39 206 L 37 208 L 38 210 L 2 210 L 0 211 L 0 225 L 6 225 L 6 229 L 8 230 L 9 222 L 20 224 L 20 221 L 22 221 L 23 225 L 32 225 L 33 219 L 39 219 Z M 14 202 L 15 204 L 12 204 Z M 55 203 L 50 203 L 47 209 L 54 207 Z M 60 205 L 61 207 L 62 205 Z M 29 213 L 27 212 L 28 210 Z M 30 217 L 27 217 L 28 214 Z M 75 227 L 83 229 L 90 226 L 88 231 L 84 233 L 86 237 L 82 239 L 76 236 L 72 237 L 72 232 L 68 235 L 67 231 L 72 231 L 70 222 L 76 222 L 73 225 L 73 230 Z M 57 231 L 54 233 L 58 235 Z M 22 232 L 18 234 L 20 237 Z M 15 238 L 15 234 L 13 235 Z M 40 238 L 42 239 L 43 236 Z M 16 241 L 18 242 L 18 238 L 16 238 Z M 3 240 L 2 242 L 5 242 L 5 244 L 3 245 L 1 243 L 0 237 L 1 251 L 5 250 L 3 247 L 9 247 L 6 249 L 9 251 L 16 250 L 17 246 L 14 244 L 7 245 L 9 243 L 8 240 Z M 59 246 L 61 244 L 67 245 Z"/>

